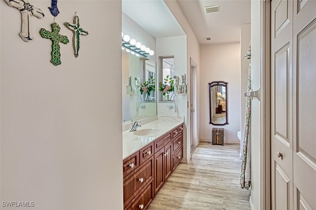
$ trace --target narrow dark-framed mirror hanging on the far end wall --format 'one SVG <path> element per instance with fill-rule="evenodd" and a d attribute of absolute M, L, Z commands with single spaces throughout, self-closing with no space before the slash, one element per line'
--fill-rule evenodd
<path fill-rule="evenodd" d="M 228 124 L 228 92 L 227 82 L 211 82 L 209 86 L 210 124 Z"/>

